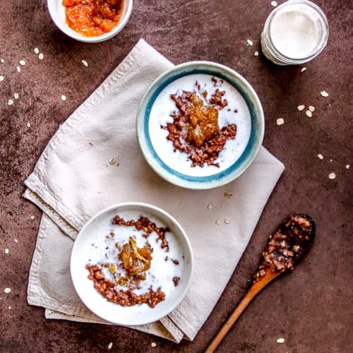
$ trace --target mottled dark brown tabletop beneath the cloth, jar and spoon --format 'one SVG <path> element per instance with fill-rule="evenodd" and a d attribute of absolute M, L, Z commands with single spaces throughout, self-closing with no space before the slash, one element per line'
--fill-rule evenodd
<path fill-rule="evenodd" d="M 350 351 L 353 166 L 345 165 L 352 159 L 353 138 L 352 1 L 316 3 L 328 16 L 330 37 L 324 52 L 301 73 L 298 67 L 276 67 L 261 54 L 253 56 L 260 51 L 270 0 L 136 1 L 126 28 L 100 44 L 75 42 L 59 32 L 44 0 L 1 1 L 0 57 L 5 63 L 0 74 L 6 77 L 0 83 L 1 352 L 102 352 L 109 342 L 114 352 L 201 352 L 243 296 L 268 234 L 290 213 L 307 213 L 315 220 L 313 249 L 294 273 L 273 282 L 251 303 L 219 352 Z M 206 59 L 245 76 L 265 110 L 264 145 L 286 166 L 220 301 L 194 342 L 180 345 L 127 328 L 47 321 L 43 309 L 26 302 L 40 210 L 21 198 L 23 181 L 59 124 L 140 37 L 175 64 Z M 246 46 L 248 38 L 253 47 Z M 33 53 L 35 47 L 44 53 L 43 61 Z M 17 73 L 20 59 L 27 64 Z M 321 90 L 329 97 L 321 97 Z M 14 92 L 20 99 L 10 107 Z M 60 99 L 63 94 L 66 102 Z M 298 112 L 299 104 L 315 106 L 313 118 Z M 280 117 L 285 124 L 277 126 Z M 335 180 L 328 179 L 330 172 L 337 174 Z M 10 253 L 4 253 L 6 248 Z M 12 292 L 5 294 L 5 287 Z M 283 345 L 276 343 L 279 337 L 285 338 Z M 151 342 L 157 347 L 151 348 Z"/>

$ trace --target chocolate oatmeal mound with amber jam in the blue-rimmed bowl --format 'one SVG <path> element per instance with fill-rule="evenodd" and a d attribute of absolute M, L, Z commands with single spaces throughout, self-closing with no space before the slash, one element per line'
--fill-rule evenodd
<path fill-rule="evenodd" d="M 191 167 L 203 167 L 204 164 L 220 167 L 216 162 L 220 152 L 227 140 L 234 139 L 237 134 L 236 124 L 219 126 L 219 112 L 228 105 L 223 99 L 225 90 L 217 88 L 209 99 L 208 95 L 197 81 L 193 92 L 171 95 L 178 110 L 171 114 L 172 123 L 161 126 L 168 131 L 167 140 L 172 141 L 174 152 L 179 150 L 189 155 Z"/>

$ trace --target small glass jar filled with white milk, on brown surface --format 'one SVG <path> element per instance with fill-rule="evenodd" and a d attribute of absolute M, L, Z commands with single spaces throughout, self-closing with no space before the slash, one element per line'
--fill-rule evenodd
<path fill-rule="evenodd" d="M 328 20 L 316 4 L 289 0 L 268 16 L 261 33 L 263 54 L 277 65 L 304 64 L 328 41 Z"/>

